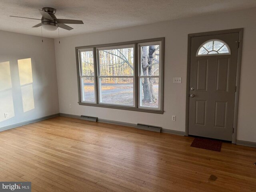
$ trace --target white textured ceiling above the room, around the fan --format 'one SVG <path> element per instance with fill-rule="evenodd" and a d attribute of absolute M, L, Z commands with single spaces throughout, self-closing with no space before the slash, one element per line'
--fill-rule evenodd
<path fill-rule="evenodd" d="M 256 7 L 256 0 L 1 0 L 0 30 L 41 36 L 41 28 L 31 28 L 40 19 L 38 9 L 52 7 L 56 17 L 83 20 L 68 24 L 73 30 L 60 29 L 60 36 L 124 28 L 230 10 Z M 57 38 L 58 30 L 43 30 L 43 36 Z"/>

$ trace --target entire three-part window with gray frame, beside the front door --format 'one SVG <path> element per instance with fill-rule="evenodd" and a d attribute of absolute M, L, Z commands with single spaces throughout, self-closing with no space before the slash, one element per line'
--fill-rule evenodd
<path fill-rule="evenodd" d="M 163 113 L 164 38 L 76 48 L 79 104 Z"/>

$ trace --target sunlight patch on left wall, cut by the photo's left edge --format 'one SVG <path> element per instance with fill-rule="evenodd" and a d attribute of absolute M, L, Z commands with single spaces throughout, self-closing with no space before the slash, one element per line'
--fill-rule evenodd
<path fill-rule="evenodd" d="M 8 113 L 7 118 L 4 113 Z M 0 62 L 0 122 L 14 116 L 10 62 Z"/>

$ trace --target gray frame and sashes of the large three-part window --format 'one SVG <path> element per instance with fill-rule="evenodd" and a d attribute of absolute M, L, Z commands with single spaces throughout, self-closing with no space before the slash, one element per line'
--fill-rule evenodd
<path fill-rule="evenodd" d="M 160 45 L 160 55 L 159 55 L 159 90 L 158 90 L 158 108 L 151 108 L 151 107 L 140 107 L 139 100 L 140 100 L 140 77 L 139 77 L 139 71 L 140 71 L 140 48 L 139 45 L 141 44 L 147 44 L 147 45 L 154 45 L 159 44 Z M 116 49 L 116 48 L 134 48 L 134 106 L 124 106 L 124 105 L 118 105 L 118 104 L 106 104 L 99 102 L 99 88 L 100 88 L 100 68 L 99 68 L 99 50 L 106 50 L 108 48 L 110 49 Z M 95 102 L 84 102 L 81 99 L 82 97 L 82 82 L 80 77 L 80 53 L 81 50 L 93 50 L 93 56 L 94 56 L 94 88 L 95 88 Z M 146 40 L 137 40 L 137 41 L 129 41 L 129 42 L 120 42 L 120 43 L 111 43 L 111 44 L 99 44 L 99 45 L 92 45 L 92 46 L 80 46 L 75 48 L 75 54 L 76 54 L 76 66 L 77 66 L 77 78 L 78 78 L 78 104 L 84 105 L 84 106 L 96 106 L 96 107 L 104 107 L 104 108 L 113 108 L 113 109 L 120 109 L 120 110 L 131 110 L 131 111 L 139 111 L 139 112 L 148 112 L 148 113 L 156 113 L 156 114 L 163 114 L 163 104 L 164 104 L 164 37 L 163 38 L 154 38 L 154 39 L 146 39 Z M 113 77 L 113 76 L 112 76 Z M 120 77 L 120 76 L 117 76 Z M 126 76 L 125 76 L 126 77 Z M 131 77 L 131 76 L 129 76 Z M 152 76 L 151 76 L 152 77 Z"/>

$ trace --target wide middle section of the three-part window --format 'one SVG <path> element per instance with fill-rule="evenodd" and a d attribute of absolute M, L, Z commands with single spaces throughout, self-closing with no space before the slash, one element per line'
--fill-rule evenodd
<path fill-rule="evenodd" d="M 134 47 L 97 48 L 99 103 L 135 106 Z"/>

